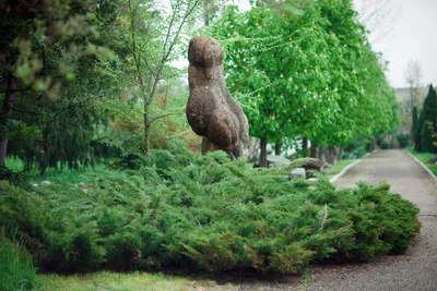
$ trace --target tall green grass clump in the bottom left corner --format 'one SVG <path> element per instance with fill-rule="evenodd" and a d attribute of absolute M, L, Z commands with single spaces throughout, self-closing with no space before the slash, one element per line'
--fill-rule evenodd
<path fill-rule="evenodd" d="M 0 290 L 34 290 L 35 266 L 31 256 L 16 242 L 11 242 L 0 231 Z"/>

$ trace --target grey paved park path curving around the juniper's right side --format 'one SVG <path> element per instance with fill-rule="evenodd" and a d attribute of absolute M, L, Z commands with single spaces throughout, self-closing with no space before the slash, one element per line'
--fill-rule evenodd
<path fill-rule="evenodd" d="M 421 209 L 422 229 L 406 253 L 370 264 L 316 267 L 312 282 L 298 290 L 437 291 L 437 183 L 406 153 L 391 149 L 363 159 L 335 185 L 352 187 L 358 181 L 377 184 L 381 180 Z"/>

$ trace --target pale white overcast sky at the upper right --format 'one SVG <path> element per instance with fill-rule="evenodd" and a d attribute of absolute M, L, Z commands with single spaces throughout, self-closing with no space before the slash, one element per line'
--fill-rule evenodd
<path fill-rule="evenodd" d="M 364 13 L 366 0 L 354 0 L 358 12 Z M 393 87 L 408 87 L 404 81 L 409 60 L 417 60 L 423 70 L 422 85 L 437 86 L 437 0 L 367 0 L 387 1 L 388 11 L 369 36 L 375 51 L 382 52 L 389 62 L 386 73 Z M 248 0 L 240 0 L 243 10 L 249 8 Z M 369 26 L 371 24 L 369 23 Z M 391 27 L 389 33 L 385 33 Z"/>

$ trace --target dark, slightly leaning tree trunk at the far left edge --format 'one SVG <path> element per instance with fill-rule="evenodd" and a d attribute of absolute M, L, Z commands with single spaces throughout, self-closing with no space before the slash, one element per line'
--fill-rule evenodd
<path fill-rule="evenodd" d="M 15 88 L 16 80 L 12 75 L 9 75 L 1 116 L 1 120 L 4 125 L 9 122 L 9 118 L 12 114 L 13 104 L 15 101 Z M 0 135 L 0 167 L 4 166 L 4 160 L 8 153 L 8 137 L 4 136 L 5 134 L 7 133 L 3 133 L 3 136 Z"/>

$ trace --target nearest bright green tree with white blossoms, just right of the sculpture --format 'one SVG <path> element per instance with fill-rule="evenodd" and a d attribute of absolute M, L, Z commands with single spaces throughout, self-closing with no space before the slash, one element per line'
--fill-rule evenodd
<path fill-rule="evenodd" d="M 268 142 L 305 136 L 333 118 L 338 93 L 327 90 L 326 57 L 328 41 L 335 40 L 321 28 L 319 13 L 307 7 L 303 16 L 288 19 L 265 7 L 246 13 L 229 8 L 212 29 L 227 48 L 229 89 L 248 116 L 250 134 L 261 140 L 261 166 Z"/>

